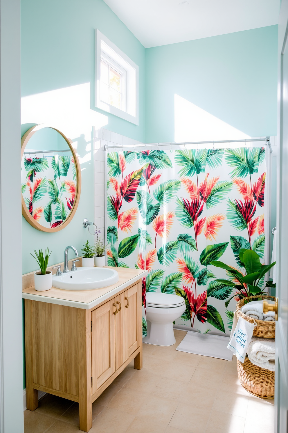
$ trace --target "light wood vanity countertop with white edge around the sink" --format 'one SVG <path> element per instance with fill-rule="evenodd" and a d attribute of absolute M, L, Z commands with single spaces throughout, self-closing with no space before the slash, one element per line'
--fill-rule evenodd
<path fill-rule="evenodd" d="M 72 262 L 72 260 L 70 262 Z M 81 262 L 82 261 L 79 262 L 79 265 L 82 264 Z M 110 266 L 105 266 L 105 268 L 110 268 Z M 116 270 L 119 275 L 119 281 L 111 286 L 93 290 L 63 290 L 52 287 L 50 290 L 43 292 L 35 290 L 35 271 L 29 272 L 28 274 L 22 275 L 22 297 L 24 299 L 31 299 L 32 301 L 48 302 L 50 304 L 66 305 L 68 307 L 90 310 L 103 301 L 106 301 L 108 298 L 116 296 L 119 292 L 123 291 L 131 284 L 136 283 L 136 281 L 139 281 L 140 278 L 148 273 L 148 271 L 143 271 L 142 269 L 116 267 L 111 267 L 111 269 Z M 52 266 L 47 268 L 47 270 L 52 270 Z M 55 271 L 56 269 L 53 270 L 53 274 Z"/>

